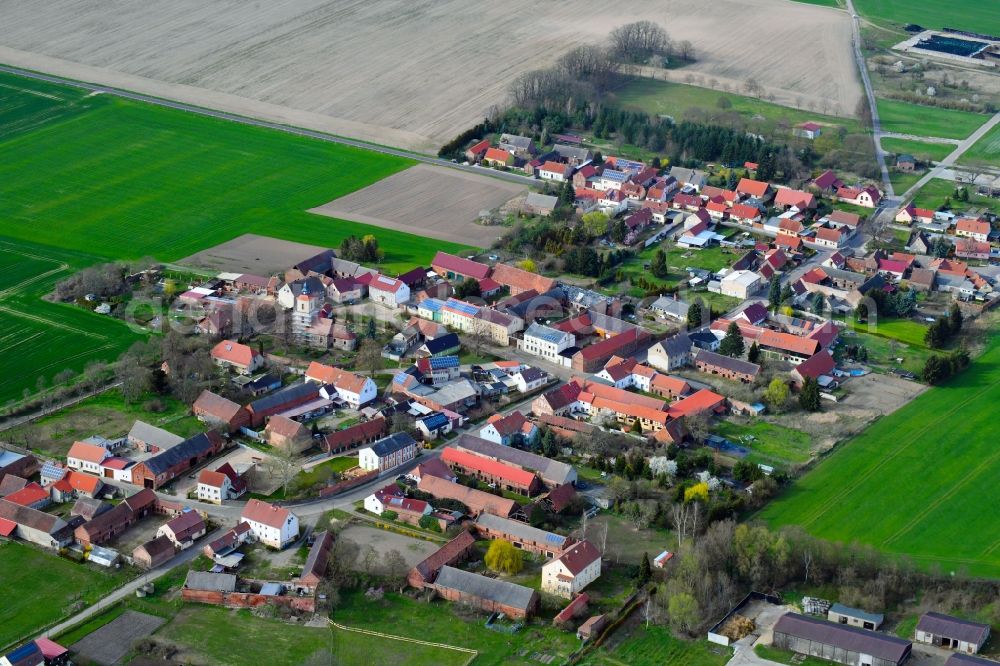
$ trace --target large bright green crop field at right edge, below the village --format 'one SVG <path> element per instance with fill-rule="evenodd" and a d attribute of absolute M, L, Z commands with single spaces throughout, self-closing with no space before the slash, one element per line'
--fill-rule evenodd
<path fill-rule="evenodd" d="M 1000 576 L 1000 337 L 964 373 L 876 421 L 759 515 L 944 572 Z"/>

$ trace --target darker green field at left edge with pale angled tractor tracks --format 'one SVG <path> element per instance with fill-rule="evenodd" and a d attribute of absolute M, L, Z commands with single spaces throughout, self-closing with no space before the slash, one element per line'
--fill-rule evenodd
<path fill-rule="evenodd" d="M 91 361 L 114 360 L 142 338 L 121 321 L 42 300 L 58 280 L 96 262 L 92 255 L 0 236 L 0 373 L 6 378 L 0 405 L 35 392 L 39 382 L 49 386 L 63 370 L 79 373 Z"/>

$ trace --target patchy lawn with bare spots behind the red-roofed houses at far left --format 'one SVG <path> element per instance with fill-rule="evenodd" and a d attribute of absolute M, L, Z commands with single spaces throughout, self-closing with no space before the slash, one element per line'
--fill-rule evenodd
<path fill-rule="evenodd" d="M 204 425 L 188 415 L 187 406 L 170 397 L 157 397 L 163 410 L 149 411 L 149 400 L 126 405 L 115 389 L 87 398 L 31 423 L 14 428 L 5 435 L 10 441 L 40 451 L 47 456 L 62 458 L 73 442 L 101 435 L 115 438 L 125 435 L 136 421 L 168 430 L 181 437 L 203 432 Z"/>

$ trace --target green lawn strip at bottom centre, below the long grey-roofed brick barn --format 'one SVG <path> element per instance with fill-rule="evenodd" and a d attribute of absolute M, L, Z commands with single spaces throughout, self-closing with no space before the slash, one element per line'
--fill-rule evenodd
<path fill-rule="evenodd" d="M 549 620 L 532 620 L 512 637 L 483 627 L 481 614 L 466 619 L 456 610 L 442 600 L 423 602 L 388 592 L 381 602 L 370 602 L 360 592 L 342 592 L 332 617 L 349 627 L 478 650 L 476 666 L 521 661 L 522 650 L 555 655 L 559 663 L 579 645 L 576 636 L 555 629 Z"/>

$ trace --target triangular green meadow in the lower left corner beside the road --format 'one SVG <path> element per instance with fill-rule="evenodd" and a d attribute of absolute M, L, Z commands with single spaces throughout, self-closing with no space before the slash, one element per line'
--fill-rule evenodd
<path fill-rule="evenodd" d="M 0 543 L 0 649 L 93 604 L 125 582 L 122 572 L 77 564 L 23 543 Z"/>

